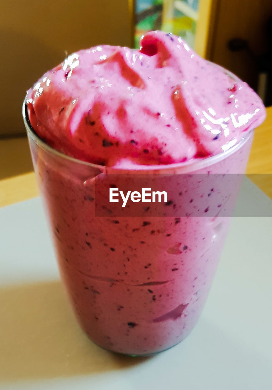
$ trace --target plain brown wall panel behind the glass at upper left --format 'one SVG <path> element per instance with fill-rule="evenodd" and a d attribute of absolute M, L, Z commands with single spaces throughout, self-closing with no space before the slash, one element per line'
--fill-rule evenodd
<path fill-rule="evenodd" d="M 0 137 L 25 133 L 26 89 L 72 53 L 131 46 L 129 0 L 0 0 Z"/>

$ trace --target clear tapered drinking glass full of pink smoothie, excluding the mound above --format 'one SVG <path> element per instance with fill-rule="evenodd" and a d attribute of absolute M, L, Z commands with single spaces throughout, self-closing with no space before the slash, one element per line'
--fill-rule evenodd
<path fill-rule="evenodd" d="M 99 346 L 133 356 L 183 340 L 207 299 L 253 131 L 209 158 L 114 169 L 52 149 L 35 134 L 25 104 L 23 116 L 60 275 L 81 328 Z M 168 202 L 157 209 L 139 203 L 122 216 L 117 203 L 105 206 L 109 185 L 131 190 L 143 183 L 167 188 Z"/>

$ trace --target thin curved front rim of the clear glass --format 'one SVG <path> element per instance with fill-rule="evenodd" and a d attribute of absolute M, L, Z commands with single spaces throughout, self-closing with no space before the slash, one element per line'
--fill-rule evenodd
<path fill-rule="evenodd" d="M 249 139 L 250 135 L 253 133 L 254 129 L 249 130 L 248 133 L 246 133 L 246 136 L 243 137 L 237 144 L 233 145 L 230 147 L 230 149 L 214 154 L 209 157 L 204 157 L 204 158 L 198 158 L 198 159 L 191 159 L 188 161 L 180 162 L 180 163 L 171 163 L 171 164 L 160 164 L 160 165 L 135 165 L 134 167 L 114 167 L 114 166 L 106 166 L 106 165 L 99 165 L 95 163 L 90 163 L 88 161 L 83 161 L 79 160 L 77 158 L 74 158 L 72 156 L 68 156 L 67 154 L 64 154 L 57 149 L 54 149 L 50 145 L 46 144 L 42 138 L 40 138 L 35 130 L 33 129 L 30 120 L 28 118 L 28 110 L 27 110 L 27 104 L 26 104 L 27 96 L 25 97 L 25 100 L 23 102 L 23 120 L 25 124 L 25 128 L 27 131 L 27 134 L 32 138 L 32 140 L 37 144 L 39 147 L 41 147 L 45 152 L 54 154 L 55 156 L 58 156 L 60 158 L 63 158 L 65 160 L 71 161 L 73 163 L 81 164 L 88 166 L 90 168 L 96 168 L 100 169 L 102 172 L 109 172 L 112 171 L 112 173 L 122 173 L 122 171 L 127 172 L 135 172 L 135 173 L 140 173 L 141 171 L 143 172 L 158 172 L 158 171 L 163 171 L 166 172 L 167 170 L 173 170 L 175 168 L 182 168 L 184 173 L 188 172 L 194 172 L 196 170 L 200 170 L 202 168 L 207 168 L 219 161 L 224 160 L 231 154 L 235 153 L 238 151 Z"/>

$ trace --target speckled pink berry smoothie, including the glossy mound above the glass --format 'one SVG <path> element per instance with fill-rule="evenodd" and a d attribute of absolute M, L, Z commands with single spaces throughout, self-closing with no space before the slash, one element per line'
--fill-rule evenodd
<path fill-rule="evenodd" d="M 180 37 L 150 32 L 139 51 L 72 54 L 28 91 L 25 108 L 79 324 L 96 344 L 128 355 L 177 344 L 206 301 L 237 174 L 265 117 L 260 99 Z M 133 190 L 139 174 L 145 186 L 166 188 L 168 200 L 121 215 L 109 186 Z"/>

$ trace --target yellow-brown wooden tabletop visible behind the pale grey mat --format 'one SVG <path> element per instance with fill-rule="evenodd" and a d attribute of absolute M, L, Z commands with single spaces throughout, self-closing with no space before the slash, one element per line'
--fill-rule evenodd
<path fill-rule="evenodd" d="M 272 199 L 272 107 L 267 108 L 267 119 L 255 132 L 246 173 Z M 38 195 L 34 172 L 0 180 L 0 207 Z"/>

